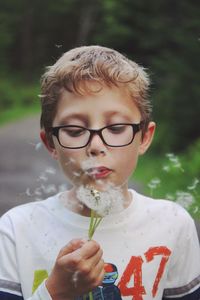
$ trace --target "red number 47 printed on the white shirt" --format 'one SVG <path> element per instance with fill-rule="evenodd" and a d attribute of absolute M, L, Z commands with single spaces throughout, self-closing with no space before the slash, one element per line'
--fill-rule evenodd
<path fill-rule="evenodd" d="M 160 265 L 153 283 L 152 287 L 152 296 L 155 297 L 158 291 L 158 286 L 162 275 L 164 273 L 164 269 L 166 263 L 169 259 L 171 251 L 164 246 L 160 247 L 152 247 L 144 254 L 146 258 L 146 262 L 150 262 L 154 259 L 155 256 L 160 255 Z M 143 300 L 142 295 L 146 295 L 145 287 L 142 284 L 142 264 L 144 260 L 141 256 L 132 256 L 123 275 L 118 284 L 118 287 L 123 296 L 133 296 L 134 300 Z M 128 287 L 131 277 L 134 277 L 134 286 Z"/>

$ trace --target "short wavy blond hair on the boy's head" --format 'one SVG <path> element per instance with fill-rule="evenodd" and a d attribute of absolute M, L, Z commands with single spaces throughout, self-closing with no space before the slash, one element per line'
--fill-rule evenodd
<path fill-rule="evenodd" d="M 41 127 L 47 133 L 63 90 L 81 95 L 95 92 L 90 89 L 91 81 L 100 83 L 101 87 L 127 89 L 147 126 L 151 115 L 150 81 L 144 68 L 113 49 L 83 46 L 64 53 L 42 76 Z"/>

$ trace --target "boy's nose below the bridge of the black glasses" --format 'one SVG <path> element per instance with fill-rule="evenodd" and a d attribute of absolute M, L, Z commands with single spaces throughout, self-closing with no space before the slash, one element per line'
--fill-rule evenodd
<path fill-rule="evenodd" d="M 101 137 L 95 133 L 87 146 L 88 156 L 105 155 L 106 150 L 106 145 L 102 141 Z"/>

